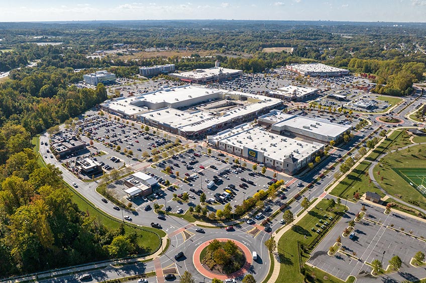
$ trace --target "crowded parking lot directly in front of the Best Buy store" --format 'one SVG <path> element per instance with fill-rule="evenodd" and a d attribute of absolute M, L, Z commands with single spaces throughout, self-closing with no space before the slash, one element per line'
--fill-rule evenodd
<path fill-rule="evenodd" d="M 149 196 L 148 199 L 156 201 L 160 205 L 170 206 L 170 212 L 176 213 L 179 208 L 184 212 L 189 206 L 194 207 L 199 204 L 199 195 L 204 193 L 208 204 L 207 209 L 216 211 L 223 209 L 227 203 L 232 206 L 241 204 L 244 199 L 252 197 L 259 190 L 266 190 L 269 187 L 268 183 L 274 182 L 274 173 L 269 170 L 265 172 L 265 175 L 258 174 L 253 172 L 251 165 L 247 166 L 250 166 L 250 169 L 238 168 L 232 163 L 232 157 L 216 151 L 206 154 L 201 150 L 198 147 L 195 150 L 189 149 L 147 168 L 144 172 L 154 175 L 154 178 L 163 183 L 164 189 L 163 192 L 155 192 L 158 199 L 152 196 Z M 167 167 L 171 169 L 170 174 L 165 172 Z M 257 171 L 260 172 L 260 170 L 259 167 Z M 278 175 L 277 178 L 283 179 L 285 182 L 292 179 L 281 175 Z M 165 186 L 166 181 L 170 185 Z M 184 192 L 189 194 L 188 202 L 181 201 L 179 197 L 173 200 L 173 194 L 179 196 Z M 285 192 L 280 193 L 279 196 L 278 202 L 275 203 L 276 206 L 286 201 Z M 137 202 L 135 204 L 138 205 L 139 200 L 135 199 L 135 201 Z M 147 204 L 149 203 L 141 204 L 141 208 Z M 273 209 L 276 207 L 271 207 L 267 212 L 272 212 Z M 261 222 L 263 218 L 257 220 Z"/>

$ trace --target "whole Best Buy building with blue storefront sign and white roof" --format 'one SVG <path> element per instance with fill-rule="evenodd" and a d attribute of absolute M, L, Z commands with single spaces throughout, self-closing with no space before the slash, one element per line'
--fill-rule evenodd
<path fill-rule="evenodd" d="M 247 123 L 209 135 L 207 140 L 219 150 L 289 175 L 301 171 L 324 151 L 322 144 L 308 144 Z"/>

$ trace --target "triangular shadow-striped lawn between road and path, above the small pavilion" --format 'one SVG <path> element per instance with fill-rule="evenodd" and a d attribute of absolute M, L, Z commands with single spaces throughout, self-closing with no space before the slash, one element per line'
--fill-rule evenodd
<path fill-rule="evenodd" d="M 381 196 L 383 193 L 373 184 L 370 183 L 370 177 L 365 176 L 368 174 L 368 168 L 371 163 L 368 161 L 361 162 L 345 179 L 343 179 L 334 189 L 331 194 L 337 197 L 352 199 L 356 192 L 362 196 L 365 192 L 375 192 Z"/>

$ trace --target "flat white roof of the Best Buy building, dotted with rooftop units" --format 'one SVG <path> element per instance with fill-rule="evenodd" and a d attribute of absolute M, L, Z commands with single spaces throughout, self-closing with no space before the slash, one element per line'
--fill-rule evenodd
<path fill-rule="evenodd" d="M 265 157 L 281 162 L 291 154 L 294 158 L 303 160 L 322 148 L 322 145 L 301 142 L 300 140 L 270 133 L 262 127 L 253 127 L 249 124 L 221 132 L 216 136 L 209 136 L 209 138 L 240 149 L 247 147 L 263 152 Z"/>

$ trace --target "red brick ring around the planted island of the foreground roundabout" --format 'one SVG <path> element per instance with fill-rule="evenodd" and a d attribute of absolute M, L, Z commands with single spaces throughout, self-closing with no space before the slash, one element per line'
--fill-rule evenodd
<path fill-rule="evenodd" d="M 229 239 L 229 238 L 218 238 L 217 240 L 221 243 L 225 243 L 228 240 L 233 241 L 238 248 L 243 252 L 244 256 L 245 256 L 245 263 L 244 265 L 238 270 L 235 271 L 233 273 L 230 274 L 224 274 L 224 273 L 216 273 L 213 272 L 212 270 L 209 269 L 208 266 L 205 266 L 203 263 L 201 263 L 201 252 L 207 248 L 207 246 L 213 241 L 214 239 L 208 240 L 202 244 L 200 244 L 194 251 L 193 256 L 192 256 L 192 261 L 194 263 L 195 269 L 197 269 L 197 271 L 207 277 L 207 278 L 218 278 L 220 280 L 225 280 L 227 278 L 237 278 L 237 277 L 241 277 L 244 276 L 245 274 L 247 274 L 249 272 L 249 270 L 251 269 L 251 265 L 253 263 L 253 258 L 252 258 L 252 253 L 249 250 L 249 248 L 244 245 L 243 243 L 234 240 L 234 239 Z"/>

